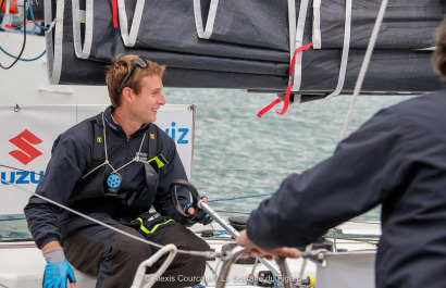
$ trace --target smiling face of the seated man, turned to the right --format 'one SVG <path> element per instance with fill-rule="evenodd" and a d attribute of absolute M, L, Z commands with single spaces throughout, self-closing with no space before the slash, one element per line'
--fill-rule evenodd
<path fill-rule="evenodd" d="M 141 123 L 151 123 L 157 120 L 157 112 L 165 104 L 162 95 L 162 82 L 159 75 L 148 75 L 140 80 L 141 90 L 133 103 L 134 116 Z"/>

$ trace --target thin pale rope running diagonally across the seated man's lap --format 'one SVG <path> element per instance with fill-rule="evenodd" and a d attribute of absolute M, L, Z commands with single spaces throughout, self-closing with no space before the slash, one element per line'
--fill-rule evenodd
<path fill-rule="evenodd" d="M 69 206 L 66 206 L 66 205 L 63 205 L 63 204 L 61 204 L 61 203 L 58 203 L 58 202 L 55 202 L 55 201 L 53 201 L 53 200 L 51 200 L 51 199 L 49 199 L 49 198 L 47 198 L 47 197 L 45 197 L 45 196 L 41 196 L 41 195 L 38 195 L 38 193 L 35 193 L 35 192 L 32 192 L 32 191 L 29 191 L 28 189 L 25 189 L 25 188 L 23 188 L 23 187 L 16 185 L 16 184 L 14 184 L 14 183 L 10 183 L 10 181 L 3 180 L 3 179 L 2 179 L 2 181 L 5 181 L 5 183 L 8 183 L 8 184 L 14 186 L 14 187 L 17 188 L 17 189 L 21 189 L 21 190 L 23 190 L 23 191 L 25 191 L 25 192 L 27 192 L 27 193 L 30 193 L 32 196 L 38 197 L 38 198 L 40 198 L 40 199 L 42 199 L 42 200 L 45 200 L 45 201 L 47 201 L 47 202 L 49 202 L 49 203 L 51 203 L 51 204 L 53 204 L 53 205 L 57 205 L 57 206 L 59 206 L 59 208 L 62 208 L 62 209 L 64 209 L 64 210 L 71 212 L 71 213 L 74 213 L 74 214 L 76 214 L 76 215 L 78 215 L 78 216 L 80 216 L 80 217 L 84 217 L 84 218 L 86 218 L 86 220 L 89 220 L 89 221 L 91 221 L 91 222 L 94 222 L 94 223 L 96 223 L 96 224 L 99 224 L 99 225 L 101 225 L 101 226 L 103 226 L 103 227 L 107 227 L 107 228 L 109 228 L 109 229 L 112 229 L 112 230 L 114 230 L 114 231 L 116 231 L 116 233 L 120 233 L 120 234 L 122 234 L 122 235 L 125 235 L 125 236 L 127 236 L 127 237 L 129 237 L 129 238 L 132 238 L 132 239 L 138 240 L 138 241 L 144 242 L 144 243 L 147 243 L 147 245 L 151 245 L 151 246 L 154 246 L 154 247 L 158 247 L 158 248 L 163 248 L 163 247 L 164 247 L 164 246 L 162 246 L 162 245 L 159 245 L 159 243 L 156 243 L 156 242 L 146 240 L 146 239 L 144 239 L 144 238 L 139 238 L 139 237 L 137 237 L 137 236 L 135 236 L 135 235 L 132 235 L 132 234 L 126 233 L 126 231 L 124 231 L 124 230 L 117 229 L 116 227 L 113 227 L 113 226 L 111 226 L 111 225 L 109 225 L 109 224 L 107 224 L 107 223 L 103 223 L 103 222 L 98 221 L 98 220 L 96 220 L 96 218 L 94 218 L 94 217 L 90 217 L 90 216 L 88 216 L 88 215 L 86 215 L 86 214 L 84 214 L 84 213 L 82 213 L 82 212 L 78 212 L 78 211 L 76 211 L 76 210 L 74 210 L 74 209 L 71 209 L 71 208 L 69 208 Z M 178 253 L 183 253 L 183 254 L 187 254 L 187 255 L 195 255 L 195 256 L 214 256 L 214 252 L 212 252 L 212 251 L 193 251 L 193 250 L 181 250 L 181 249 L 178 249 L 177 252 L 178 252 Z"/>

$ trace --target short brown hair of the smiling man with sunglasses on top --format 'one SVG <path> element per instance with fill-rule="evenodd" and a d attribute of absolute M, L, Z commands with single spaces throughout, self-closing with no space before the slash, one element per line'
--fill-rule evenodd
<path fill-rule="evenodd" d="M 141 86 L 140 79 L 148 76 L 148 75 L 159 75 L 160 77 L 163 76 L 165 66 L 160 65 L 158 63 L 144 60 L 147 62 L 146 67 L 140 67 L 139 65 L 135 65 L 135 68 L 132 73 L 132 67 L 135 63 L 135 60 L 138 55 L 126 55 L 116 60 L 113 64 L 109 66 L 107 72 L 106 82 L 107 87 L 109 89 L 109 97 L 111 101 L 111 105 L 116 108 L 121 105 L 121 95 L 124 87 L 132 88 L 136 93 L 139 93 Z M 129 77 L 123 83 L 125 76 L 127 74 Z M 121 87 L 122 86 L 122 87 Z M 120 89 L 121 87 L 121 89 Z"/>

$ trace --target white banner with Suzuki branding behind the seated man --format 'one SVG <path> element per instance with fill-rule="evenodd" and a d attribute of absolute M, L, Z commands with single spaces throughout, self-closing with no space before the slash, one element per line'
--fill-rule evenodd
<path fill-rule="evenodd" d="M 35 191 L 59 136 L 76 123 L 102 112 L 107 105 L 30 105 L 18 112 L 0 107 L 0 215 L 23 213 Z M 164 105 L 157 125 L 176 143 L 190 179 L 195 112 L 190 105 Z M 7 183 L 8 181 L 8 183 Z"/>

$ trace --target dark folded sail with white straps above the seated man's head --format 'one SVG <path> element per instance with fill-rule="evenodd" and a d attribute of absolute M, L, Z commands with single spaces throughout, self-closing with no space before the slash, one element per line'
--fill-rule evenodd
<path fill-rule="evenodd" d="M 166 87 L 237 88 L 321 98 L 333 92 L 343 54 L 351 92 L 381 1 L 358 0 L 46 0 L 49 79 L 104 85 L 106 66 L 138 54 L 168 66 Z M 388 5 L 363 93 L 442 88 L 431 64 L 445 1 Z M 347 25 L 346 25 L 347 22 Z M 289 77 L 296 48 L 299 53 Z M 343 53 L 348 49 L 348 53 Z"/>

